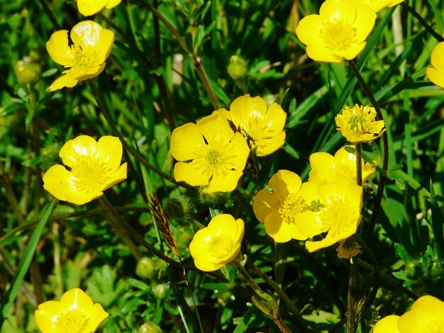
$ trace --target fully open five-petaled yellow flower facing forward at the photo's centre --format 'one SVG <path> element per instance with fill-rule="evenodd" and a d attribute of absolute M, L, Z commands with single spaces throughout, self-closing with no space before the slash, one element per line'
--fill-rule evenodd
<path fill-rule="evenodd" d="M 216 113 L 176 128 L 171 154 L 177 159 L 174 178 L 192 186 L 207 186 L 207 193 L 233 191 L 243 174 L 250 149 Z"/>

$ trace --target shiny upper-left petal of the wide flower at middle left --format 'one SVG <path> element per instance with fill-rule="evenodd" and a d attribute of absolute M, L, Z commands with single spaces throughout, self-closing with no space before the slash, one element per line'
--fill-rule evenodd
<path fill-rule="evenodd" d="M 73 140 L 69 140 L 60 149 L 59 156 L 63 164 L 73 168 L 79 162 L 81 157 L 94 156 L 96 154 L 97 142 L 89 135 L 80 135 Z"/>

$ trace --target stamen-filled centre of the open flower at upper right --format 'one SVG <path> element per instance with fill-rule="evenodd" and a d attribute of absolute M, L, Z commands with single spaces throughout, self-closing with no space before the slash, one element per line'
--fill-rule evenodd
<path fill-rule="evenodd" d="M 353 28 L 343 18 L 333 18 L 331 21 L 323 23 L 321 38 L 328 50 L 348 50 L 356 43 L 356 28 Z"/>

